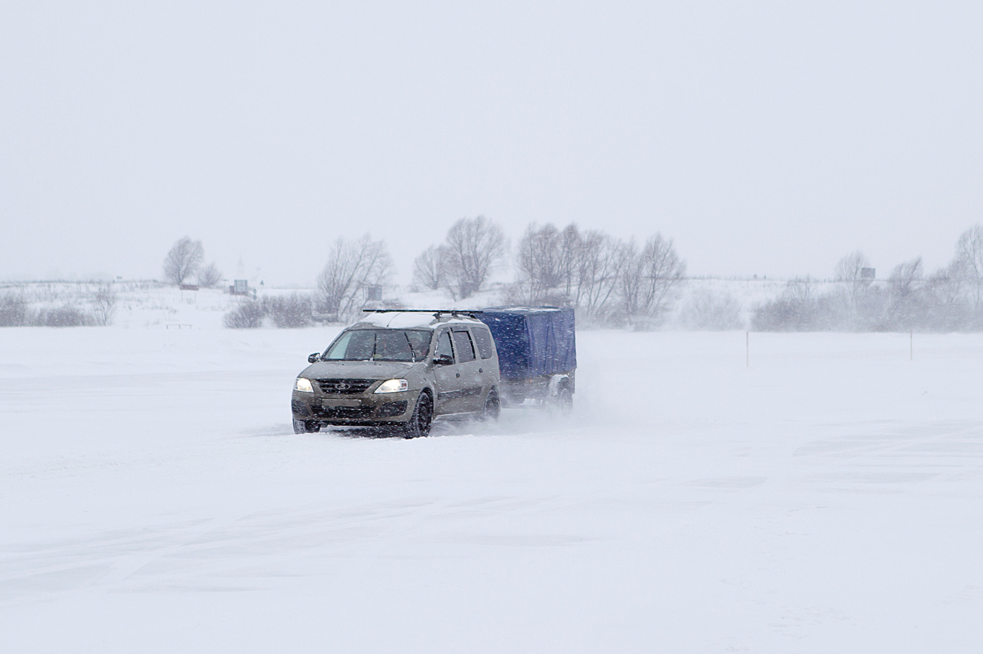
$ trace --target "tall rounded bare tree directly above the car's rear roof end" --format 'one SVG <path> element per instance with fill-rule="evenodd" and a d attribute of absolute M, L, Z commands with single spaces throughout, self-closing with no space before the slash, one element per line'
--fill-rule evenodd
<path fill-rule="evenodd" d="M 447 231 L 447 286 L 458 299 L 470 298 L 505 253 L 505 235 L 484 216 L 461 218 Z"/>

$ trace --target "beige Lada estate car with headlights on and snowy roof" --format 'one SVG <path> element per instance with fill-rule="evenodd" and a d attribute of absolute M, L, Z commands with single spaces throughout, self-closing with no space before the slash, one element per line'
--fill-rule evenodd
<path fill-rule="evenodd" d="M 297 376 L 295 433 L 388 427 L 407 438 L 435 417 L 497 419 L 498 354 L 478 312 L 367 309 Z"/>

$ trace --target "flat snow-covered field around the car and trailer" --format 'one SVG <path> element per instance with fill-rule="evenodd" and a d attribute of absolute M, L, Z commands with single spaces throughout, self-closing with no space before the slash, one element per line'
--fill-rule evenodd
<path fill-rule="evenodd" d="M 0 330 L 0 649 L 980 650 L 983 335 L 583 331 L 568 421 L 294 435 L 335 331 Z"/>

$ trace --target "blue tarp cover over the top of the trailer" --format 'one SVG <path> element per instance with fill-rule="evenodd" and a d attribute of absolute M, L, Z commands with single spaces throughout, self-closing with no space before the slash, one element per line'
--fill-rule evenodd
<path fill-rule="evenodd" d="M 572 308 L 496 306 L 478 317 L 492 330 L 503 379 L 531 379 L 577 367 Z"/>

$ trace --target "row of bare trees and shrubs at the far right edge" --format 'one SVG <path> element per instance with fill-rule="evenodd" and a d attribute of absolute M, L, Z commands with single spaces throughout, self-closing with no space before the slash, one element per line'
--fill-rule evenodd
<path fill-rule="evenodd" d="M 983 329 L 983 227 L 963 232 L 953 260 L 926 274 L 920 256 L 898 263 L 886 282 L 864 274 L 860 251 L 836 267 L 838 288 L 818 294 L 808 277 L 788 282 L 781 298 L 760 306 L 755 329 L 770 331 Z"/>

